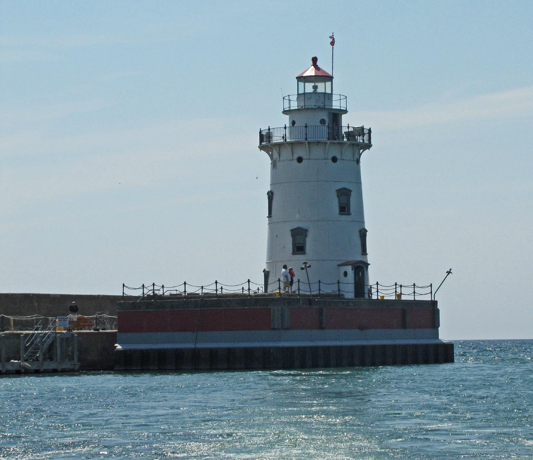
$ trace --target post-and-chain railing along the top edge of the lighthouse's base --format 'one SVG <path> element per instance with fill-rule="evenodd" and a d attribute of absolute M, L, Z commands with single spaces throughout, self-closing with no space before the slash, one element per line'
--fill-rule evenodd
<path fill-rule="evenodd" d="M 290 292 L 286 292 L 285 288 L 286 286 L 284 286 L 284 283 L 280 278 L 268 283 L 267 285 L 264 285 L 264 283 L 254 283 L 250 280 L 240 284 L 222 284 L 219 281 L 215 281 L 214 283 L 200 286 L 189 284 L 187 282 L 183 282 L 176 286 L 165 286 L 163 284 L 158 285 L 156 283 L 151 283 L 143 284 L 139 287 L 130 287 L 123 284 L 122 299 L 125 300 L 127 297 L 135 297 L 137 301 L 157 299 L 163 300 L 164 298 L 171 298 L 171 296 L 187 297 L 191 294 L 215 294 L 215 297 L 229 294 L 246 294 L 248 297 L 252 297 L 253 294 L 263 294 L 265 292 L 276 291 L 279 291 L 279 295 L 293 294 L 298 295 L 298 297 L 301 294 L 317 295 L 317 297 L 320 297 L 321 295 L 336 295 L 338 298 L 341 298 L 341 295 L 344 297 L 344 294 L 356 295 L 356 291 L 360 293 L 358 287 L 354 286 L 353 283 L 345 283 L 340 280 L 337 280 L 333 283 L 326 283 L 321 280 L 307 283 L 298 278 L 298 280 L 294 280 L 294 284 L 290 288 Z M 394 283 L 390 285 L 384 285 L 376 282 L 374 284 L 366 284 L 364 293 L 365 297 L 368 299 L 406 300 L 411 299 L 411 296 L 413 296 L 413 300 L 427 300 L 427 297 L 429 297 L 430 300 L 433 300 L 433 284 L 429 284 L 427 286 L 419 286 L 415 283 Z"/>

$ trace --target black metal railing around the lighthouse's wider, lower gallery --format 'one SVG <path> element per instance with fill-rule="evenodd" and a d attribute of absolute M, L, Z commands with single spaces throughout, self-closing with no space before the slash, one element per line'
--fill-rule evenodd
<path fill-rule="evenodd" d="M 346 141 L 372 144 L 372 129 L 364 126 L 306 124 L 259 130 L 260 145 L 291 141 Z"/>

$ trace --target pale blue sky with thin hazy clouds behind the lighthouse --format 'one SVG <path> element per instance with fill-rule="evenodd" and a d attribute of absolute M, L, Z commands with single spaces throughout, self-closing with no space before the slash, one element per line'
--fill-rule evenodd
<path fill-rule="evenodd" d="M 370 278 L 441 336 L 531 338 L 530 2 L 2 2 L 0 290 L 262 280 L 259 128 L 317 55 L 362 158 Z"/>

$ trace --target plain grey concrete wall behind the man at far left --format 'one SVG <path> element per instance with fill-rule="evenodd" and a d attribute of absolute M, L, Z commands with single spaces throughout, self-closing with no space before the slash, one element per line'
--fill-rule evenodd
<path fill-rule="evenodd" d="M 121 300 L 122 295 L 0 293 L 0 315 L 64 316 L 70 304 L 76 302 L 79 315 L 116 316 Z"/>

